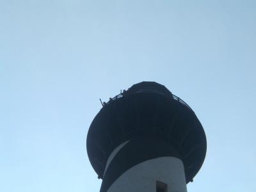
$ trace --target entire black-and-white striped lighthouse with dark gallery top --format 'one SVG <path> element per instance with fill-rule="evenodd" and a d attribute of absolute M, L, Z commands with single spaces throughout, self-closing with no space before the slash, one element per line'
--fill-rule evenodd
<path fill-rule="evenodd" d="M 186 192 L 206 154 L 188 104 L 161 84 L 141 82 L 102 105 L 86 141 L 100 192 Z"/>

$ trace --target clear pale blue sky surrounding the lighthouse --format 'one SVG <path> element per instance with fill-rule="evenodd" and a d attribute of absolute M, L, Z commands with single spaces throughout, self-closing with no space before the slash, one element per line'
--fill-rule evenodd
<path fill-rule="evenodd" d="M 189 192 L 254 192 L 256 1 L 0 1 L 0 191 L 99 191 L 88 127 L 164 84 L 204 126 Z"/>

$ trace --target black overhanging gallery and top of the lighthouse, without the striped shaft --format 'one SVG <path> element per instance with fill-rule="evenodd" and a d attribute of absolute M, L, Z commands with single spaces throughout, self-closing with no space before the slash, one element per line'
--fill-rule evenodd
<path fill-rule="evenodd" d="M 135 138 L 141 138 L 141 142 L 145 138 L 161 140 L 175 148 L 184 164 L 187 183 L 193 180 L 205 159 L 205 132 L 195 113 L 155 82 L 134 84 L 104 104 L 93 119 L 86 146 L 90 163 L 100 178 L 111 152 Z M 154 150 L 152 153 L 154 157 L 160 156 Z"/>

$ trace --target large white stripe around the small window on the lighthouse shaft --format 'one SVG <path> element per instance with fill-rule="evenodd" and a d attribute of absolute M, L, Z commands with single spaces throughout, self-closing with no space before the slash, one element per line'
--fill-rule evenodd
<path fill-rule="evenodd" d="M 187 191 L 182 161 L 176 157 L 159 157 L 124 172 L 108 192 L 156 192 L 156 180 L 166 183 L 168 192 Z"/>

